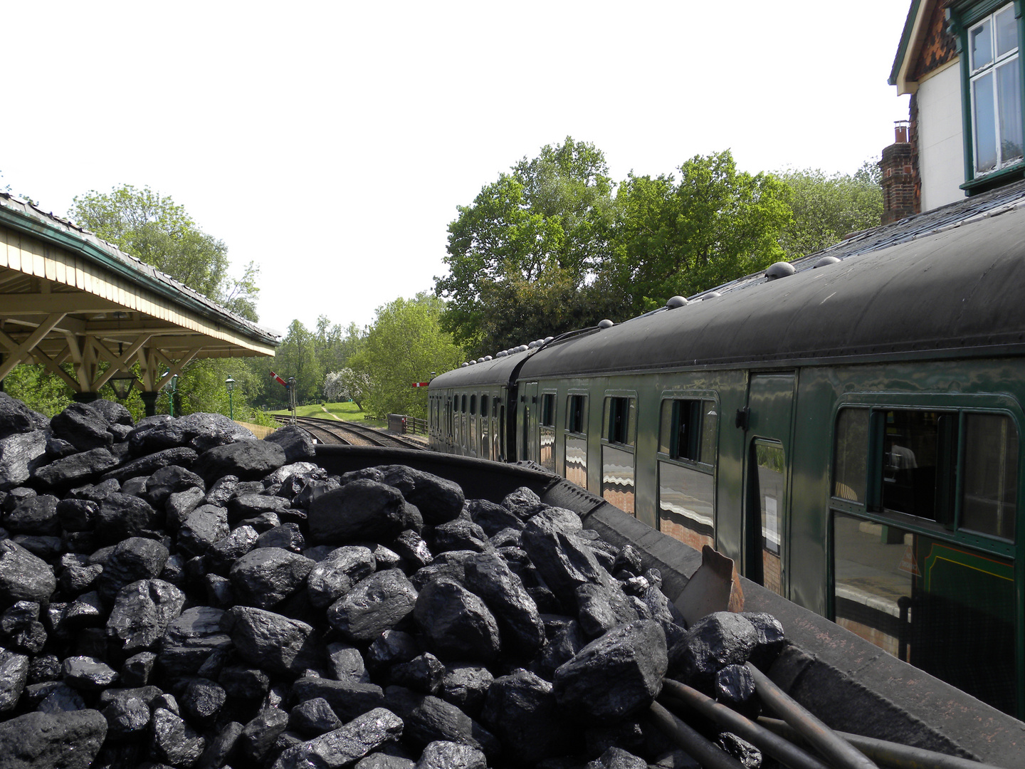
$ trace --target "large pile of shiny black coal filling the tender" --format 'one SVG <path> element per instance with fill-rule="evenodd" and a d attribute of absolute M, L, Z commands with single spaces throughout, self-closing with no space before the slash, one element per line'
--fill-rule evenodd
<path fill-rule="evenodd" d="M 0 392 L 0 764 L 696 766 L 646 722 L 663 678 L 750 709 L 771 617 L 685 629 L 636 550 L 529 489 L 314 454 Z"/>

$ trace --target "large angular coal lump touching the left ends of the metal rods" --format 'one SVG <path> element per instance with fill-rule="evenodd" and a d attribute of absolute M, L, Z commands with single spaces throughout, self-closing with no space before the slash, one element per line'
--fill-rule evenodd
<path fill-rule="evenodd" d="M 661 625 L 650 619 L 621 624 L 556 671 L 556 698 L 583 720 L 629 718 L 655 700 L 667 664 Z"/>

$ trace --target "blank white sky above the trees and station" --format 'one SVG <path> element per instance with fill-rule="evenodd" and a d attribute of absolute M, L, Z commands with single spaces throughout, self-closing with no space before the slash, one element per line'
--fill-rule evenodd
<path fill-rule="evenodd" d="M 260 325 L 362 326 L 434 286 L 457 205 L 567 135 L 616 180 L 725 149 L 855 171 L 907 118 L 908 6 L 7 3 L 0 189 L 64 215 L 148 185 L 260 266 Z"/>

